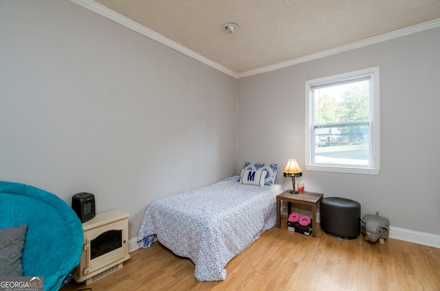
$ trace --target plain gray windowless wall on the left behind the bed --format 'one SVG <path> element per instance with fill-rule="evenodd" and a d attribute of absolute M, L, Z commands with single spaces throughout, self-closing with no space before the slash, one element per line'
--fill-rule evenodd
<path fill-rule="evenodd" d="M 0 1 L 0 180 L 97 212 L 236 174 L 237 80 L 63 1 Z"/>

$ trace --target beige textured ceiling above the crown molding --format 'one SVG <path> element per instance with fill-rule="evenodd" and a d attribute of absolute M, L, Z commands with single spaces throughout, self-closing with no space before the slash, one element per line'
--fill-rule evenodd
<path fill-rule="evenodd" d="M 440 19 L 440 0 L 96 2 L 236 73 Z"/>

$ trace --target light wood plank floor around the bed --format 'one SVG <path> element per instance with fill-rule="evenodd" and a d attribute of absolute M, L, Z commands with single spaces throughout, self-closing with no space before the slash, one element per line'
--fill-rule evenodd
<path fill-rule="evenodd" d="M 393 239 L 372 244 L 362 234 L 340 240 L 320 229 L 315 238 L 287 231 L 286 218 L 282 225 L 234 257 L 224 281 L 197 281 L 190 259 L 155 242 L 107 277 L 89 286 L 72 280 L 61 290 L 440 290 L 439 248 Z"/>

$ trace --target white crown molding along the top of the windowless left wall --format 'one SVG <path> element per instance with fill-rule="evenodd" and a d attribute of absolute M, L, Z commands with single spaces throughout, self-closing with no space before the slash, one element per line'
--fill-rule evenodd
<path fill-rule="evenodd" d="M 83 6 L 84 8 L 87 8 L 88 10 L 96 12 L 96 13 L 100 14 L 101 16 L 106 17 L 107 19 L 115 21 L 115 23 L 119 23 L 120 25 L 123 25 L 131 30 L 134 30 L 135 32 L 138 32 L 148 38 L 156 40 L 158 43 L 162 43 L 162 45 L 166 45 L 167 47 L 170 47 L 171 49 L 175 49 L 176 51 L 179 51 L 182 54 L 189 56 L 190 58 L 194 58 L 195 60 L 199 60 L 199 62 L 203 62 L 204 64 L 206 64 L 214 69 L 217 69 L 227 75 L 230 75 L 234 78 L 239 77 L 238 73 L 232 71 L 231 69 L 228 69 L 227 67 L 220 65 L 218 62 L 214 62 L 204 56 L 201 56 L 201 54 L 197 54 L 195 51 L 188 49 L 188 47 L 184 47 L 183 45 L 176 43 L 174 40 L 170 40 L 169 38 L 162 36 L 162 34 L 158 34 L 157 32 L 154 32 L 153 30 L 150 30 L 149 28 L 144 27 L 144 25 L 140 25 L 139 23 L 127 18 L 126 16 L 124 16 L 122 14 L 119 14 L 118 12 L 114 12 L 113 10 L 105 7 L 104 5 L 102 5 L 100 3 L 97 3 L 93 0 L 70 0 L 70 1 L 72 1 L 78 5 Z"/>

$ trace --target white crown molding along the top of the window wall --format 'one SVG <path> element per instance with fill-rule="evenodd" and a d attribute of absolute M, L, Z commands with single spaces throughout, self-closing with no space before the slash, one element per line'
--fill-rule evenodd
<path fill-rule="evenodd" d="M 250 71 L 245 71 L 239 73 L 239 78 L 247 77 L 249 75 L 256 75 L 258 73 L 265 73 L 268 71 L 275 71 L 277 69 L 282 69 L 285 67 L 290 67 L 293 65 L 298 65 L 302 62 L 309 62 L 310 60 L 316 60 L 318 58 L 324 58 L 325 56 L 332 56 L 334 54 L 339 54 L 344 51 L 350 51 L 352 49 L 359 49 L 361 47 L 366 47 L 369 45 L 374 45 L 375 43 L 382 43 L 386 40 L 391 40 L 394 38 L 399 38 L 401 36 L 407 36 L 409 34 L 415 34 L 417 32 L 423 32 L 424 30 L 430 30 L 435 27 L 440 27 L 440 19 L 435 19 L 433 21 L 428 21 L 425 23 L 413 25 L 410 27 L 402 28 L 401 30 L 395 30 L 394 32 L 388 32 L 387 34 L 381 34 L 380 36 L 373 36 L 371 38 L 366 38 L 364 40 L 356 41 L 355 43 L 349 43 L 348 45 L 341 45 L 340 47 L 333 47 L 325 51 L 319 51 L 316 54 L 309 54 L 300 58 L 294 58 L 292 60 L 287 60 L 285 62 L 278 62 L 274 65 L 269 65 L 267 67 L 261 67 L 259 69 L 254 69 Z"/>

